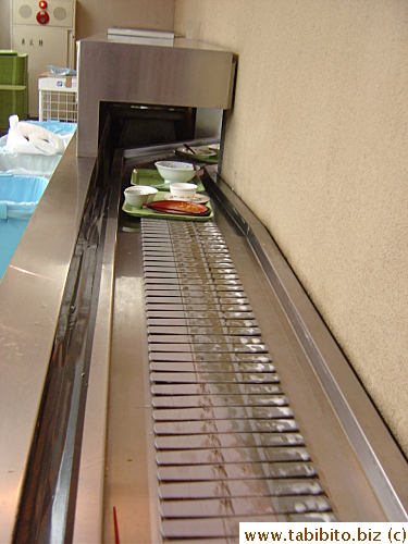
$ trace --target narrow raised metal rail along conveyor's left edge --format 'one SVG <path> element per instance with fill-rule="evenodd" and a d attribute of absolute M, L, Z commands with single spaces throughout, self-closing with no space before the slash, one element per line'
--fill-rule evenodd
<path fill-rule="evenodd" d="M 115 173 L 118 162 L 120 161 L 116 160 L 113 163 L 112 176 L 118 176 Z M 119 168 L 120 165 L 119 163 Z M 120 183 L 112 183 L 111 189 L 81 449 L 73 542 L 102 541 L 108 393 Z"/>

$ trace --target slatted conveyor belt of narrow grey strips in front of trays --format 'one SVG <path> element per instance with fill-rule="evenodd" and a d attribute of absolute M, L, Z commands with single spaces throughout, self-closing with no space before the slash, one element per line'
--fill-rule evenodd
<path fill-rule="evenodd" d="M 163 537 L 335 521 L 219 228 L 141 233 Z"/>

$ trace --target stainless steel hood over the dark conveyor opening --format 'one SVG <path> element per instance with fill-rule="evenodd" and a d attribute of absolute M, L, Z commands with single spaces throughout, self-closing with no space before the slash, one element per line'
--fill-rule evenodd
<path fill-rule="evenodd" d="M 97 35 L 78 45 L 77 156 L 96 157 L 101 102 L 227 110 L 236 59 L 231 51 L 176 38 L 173 47 L 116 42 Z"/>

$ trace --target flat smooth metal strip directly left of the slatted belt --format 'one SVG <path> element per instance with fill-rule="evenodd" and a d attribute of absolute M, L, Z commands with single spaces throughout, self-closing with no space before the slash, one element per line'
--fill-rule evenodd
<path fill-rule="evenodd" d="M 114 542 L 114 511 L 121 542 L 161 542 L 141 262 L 140 233 L 119 233 L 103 542 Z"/>

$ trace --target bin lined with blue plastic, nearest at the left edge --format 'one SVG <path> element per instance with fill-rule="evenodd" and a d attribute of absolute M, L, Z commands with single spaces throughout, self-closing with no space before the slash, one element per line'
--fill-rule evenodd
<path fill-rule="evenodd" d="M 0 281 L 47 184 L 46 177 L 0 176 Z"/>

